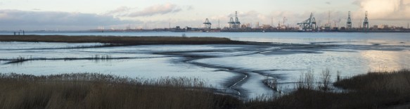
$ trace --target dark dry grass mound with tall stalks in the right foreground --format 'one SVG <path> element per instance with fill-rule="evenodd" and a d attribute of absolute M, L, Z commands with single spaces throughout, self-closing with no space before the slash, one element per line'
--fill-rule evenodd
<path fill-rule="evenodd" d="M 327 72 L 323 70 L 319 82 L 327 81 Z M 392 108 L 410 103 L 409 70 L 369 72 L 335 82 L 335 86 L 348 90 L 344 92 L 321 90 L 323 85 L 312 88 L 311 73 L 301 78 L 293 93 L 255 100 L 246 103 L 247 108 Z"/>

